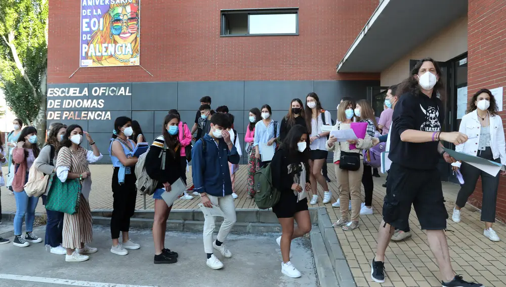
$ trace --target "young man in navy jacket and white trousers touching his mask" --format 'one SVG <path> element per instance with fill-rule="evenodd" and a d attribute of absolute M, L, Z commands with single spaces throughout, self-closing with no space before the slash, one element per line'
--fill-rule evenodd
<path fill-rule="evenodd" d="M 204 252 L 207 266 L 212 269 L 223 268 L 223 263 L 214 256 L 213 249 L 223 257 L 230 258 L 232 253 L 223 242 L 236 221 L 235 205 L 232 198 L 232 182 L 228 162 L 237 165 L 239 153 L 230 140 L 230 119 L 227 114 L 215 113 L 210 119 L 210 131 L 192 148 L 192 177 L 195 191 L 200 194 L 202 204 L 207 208 L 219 208 L 224 215 L 218 236 L 213 241 L 215 218 L 204 219 Z"/>

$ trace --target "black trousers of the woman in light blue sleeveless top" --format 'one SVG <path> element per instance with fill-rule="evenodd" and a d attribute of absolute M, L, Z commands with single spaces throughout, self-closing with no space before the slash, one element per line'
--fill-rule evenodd
<path fill-rule="evenodd" d="M 137 188 L 135 187 L 136 177 L 134 167 L 132 173 L 125 175 L 123 184 L 118 183 L 119 168 L 114 168 L 112 174 L 112 217 L 111 217 L 111 238 L 119 238 L 119 232 L 128 232 L 130 229 L 130 218 L 134 216 Z"/>

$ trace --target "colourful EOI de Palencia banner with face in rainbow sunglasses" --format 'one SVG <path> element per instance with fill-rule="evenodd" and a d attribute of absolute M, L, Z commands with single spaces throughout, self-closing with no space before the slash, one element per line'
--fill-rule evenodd
<path fill-rule="evenodd" d="M 137 66 L 140 0 L 80 0 L 80 67 Z"/>

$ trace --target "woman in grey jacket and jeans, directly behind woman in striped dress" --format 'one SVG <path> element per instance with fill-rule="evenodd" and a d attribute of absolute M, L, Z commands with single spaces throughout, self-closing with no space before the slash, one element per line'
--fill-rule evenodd
<path fill-rule="evenodd" d="M 51 124 L 53 126 L 48 133 L 46 145 L 40 150 L 38 157 L 33 162 L 35 169 L 46 175 L 56 172 L 56 150 L 60 148 L 60 142 L 67 131 L 67 126 L 59 123 Z M 48 192 L 51 185 L 48 184 L 46 192 L 42 195 L 42 203 L 46 205 Z M 63 212 L 46 209 L 46 248 L 49 252 L 57 255 L 65 255 L 67 251 L 62 247 L 63 242 Z"/>

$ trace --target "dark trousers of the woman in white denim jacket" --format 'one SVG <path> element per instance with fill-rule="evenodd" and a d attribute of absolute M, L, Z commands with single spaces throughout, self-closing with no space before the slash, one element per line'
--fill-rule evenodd
<path fill-rule="evenodd" d="M 477 156 L 495 162 L 500 162 L 499 158 L 493 158 L 490 147 L 486 147 L 485 150 L 478 151 Z M 462 165 L 460 166 L 460 173 L 464 179 L 464 184 L 460 185 L 460 190 L 458 191 L 457 200 L 455 202 L 456 206 L 463 208 L 466 205 L 469 196 L 473 194 L 476 188 L 478 178 L 481 176 L 481 189 L 483 190 L 481 221 L 495 222 L 495 206 L 497 202 L 497 189 L 499 188 L 500 175 L 497 174 L 495 177 L 491 176 L 466 162 L 462 162 Z"/>

